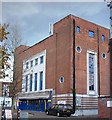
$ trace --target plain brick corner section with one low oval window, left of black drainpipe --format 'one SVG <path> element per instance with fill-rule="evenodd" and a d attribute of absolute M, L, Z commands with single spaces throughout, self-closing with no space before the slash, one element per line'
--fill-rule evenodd
<path fill-rule="evenodd" d="M 54 25 L 56 34 L 56 89 L 57 93 L 70 93 L 72 89 L 72 38 L 71 16 L 67 16 Z M 59 78 L 64 77 L 64 83 Z"/>

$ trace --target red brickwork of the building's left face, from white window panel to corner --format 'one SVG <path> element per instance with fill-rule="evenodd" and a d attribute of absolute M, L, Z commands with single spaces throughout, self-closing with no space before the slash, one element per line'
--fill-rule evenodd
<path fill-rule="evenodd" d="M 56 26 L 56 27 L 55 27 Z M 61 28 L 58 28 L 60 27 Z M 22 70 L 22 60 L 29 58 L 46 49 L 46 89 L 56 89 L 56 93 L 67 93 L 71 91 L 70 86 L 70 60 L 71 60 L 71 39 L 70 39 L 70 18 L 62 21 L 62 24 L 54 25 L 55 32 L 51 37 L 28 48 L 21 54 L 18 54 L 17 65 L 20 64 Z M 68 34 L 65 34 L 68 33 Z M 63 84 L 59 83 L 59 78 L 64 76 Z M 20 76 L 19 80 L 22 77 Z"/>

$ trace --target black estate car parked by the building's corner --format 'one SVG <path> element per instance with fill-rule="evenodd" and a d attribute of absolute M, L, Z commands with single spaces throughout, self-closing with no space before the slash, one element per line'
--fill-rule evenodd
<path fill-rule="evenodd" d="M 73 108 L 70 104 L 56 104 L 49 109 L 46 109 L 47 115 L 57 115 L 58 117 L 66 115 L 68 117 L 73 114 Z"/>

